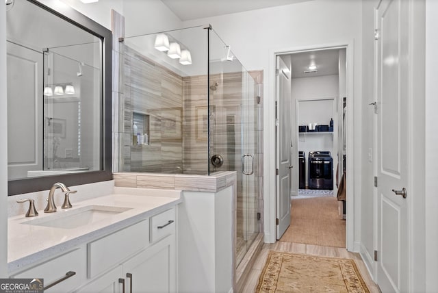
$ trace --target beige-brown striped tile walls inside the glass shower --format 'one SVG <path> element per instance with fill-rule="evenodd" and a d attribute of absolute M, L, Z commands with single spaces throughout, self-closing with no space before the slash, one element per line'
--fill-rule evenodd
<path fill-rule="evenodd" d="M 181 77 L 127 46 L 124 58 L 120 172 L 207 175 L 207 75 Z M 212 75 L 211 80 L 220 84 L 210 90 L 210 150 L 222 155 L 224 164 L 215 168 L 210 163 L 210 172 L 237 170 L 241 177 L 242 73 Z M 150 117 L 149 145 L 133 145 L 133 112 Z M 258 141 L 251 153 L 257 153 Z"/>

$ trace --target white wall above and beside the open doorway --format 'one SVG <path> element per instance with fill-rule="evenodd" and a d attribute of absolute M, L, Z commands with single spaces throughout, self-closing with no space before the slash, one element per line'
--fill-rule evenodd
<path fill-rule="evenodd" d="M 233 52 L 247 70 L 263 70 L 264 129 L 274 125 L 274 55 L 276 52 L 298 51 L 311 47 L 327 47 L 331 44 L 354 43 L 348 54 L 354 56 L 354 80 L 349 81 L 350 92 L 354 92 L 355 101 L 361 100 L 361 1 L 349 0 L 315 0 L 275 8 L 253 10 L 236 14 L 227 14 L 196 21 L 185 21 L 184 26 L 211 23 L 218 35 L 231 44 Z M 353 67 L 351 67 L 353 68 Z M 355 103 L 352 109 L 355 126 L 352 129 L 360 133 L 361 105 Z M 275 194 L 275 133 L 266 131 L 264 140 L 264 194 Z M 355 194 L 360 190 L 360 153 L 361 137 L 354 137 L 355 143 Z M 265 199 L 266 242 L 274 242 L 272 214 L 275 212 L 272 197 Z M 360 209 L 355 206 L 355 213 Z M 355 240 L 359 238 L 359 221 L 355 225 Z"/>

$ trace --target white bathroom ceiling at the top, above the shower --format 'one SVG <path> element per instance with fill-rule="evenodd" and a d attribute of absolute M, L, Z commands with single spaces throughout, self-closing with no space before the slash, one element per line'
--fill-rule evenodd
<path fill-rule="evenodd" d="M 306 1 L 311 0 L 162 0 L 181 21 Z"/>

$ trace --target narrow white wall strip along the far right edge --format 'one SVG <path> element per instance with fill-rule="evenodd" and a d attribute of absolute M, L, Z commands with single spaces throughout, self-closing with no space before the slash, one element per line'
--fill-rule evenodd
<path fill-rule="evenodd" d="M 426 0 L 426 290 L 438 288 L 438 1 Z"/>

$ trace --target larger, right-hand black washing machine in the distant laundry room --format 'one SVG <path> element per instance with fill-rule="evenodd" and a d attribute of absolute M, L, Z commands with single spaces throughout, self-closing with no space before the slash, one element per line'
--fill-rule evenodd
<path fill-rule="evenodd" d="M 333 190 L 333 158 L 329 151 L 309 152 L 309 188 Z"/>

